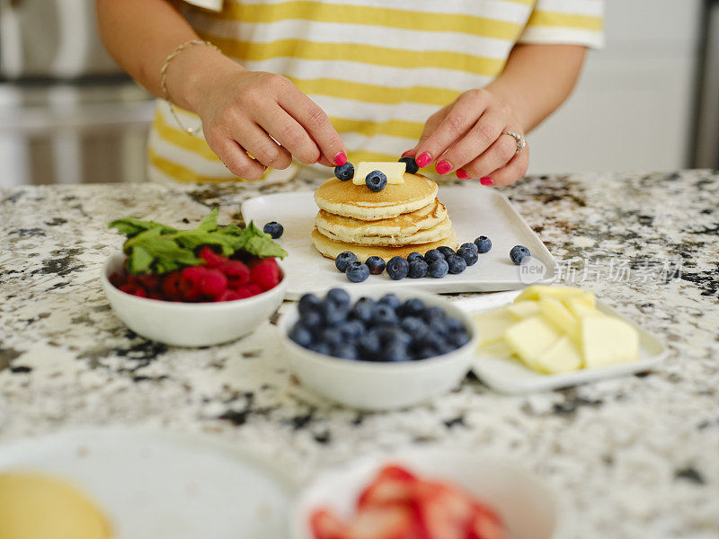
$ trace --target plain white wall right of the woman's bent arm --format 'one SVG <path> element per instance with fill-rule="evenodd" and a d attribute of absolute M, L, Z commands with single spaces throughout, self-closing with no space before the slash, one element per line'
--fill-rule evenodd
<path fill-rule="evenodd" d="M 605 49 L 528 137 L 530 173 L 687 166 L 701 0 L 605 0 Z"/>

